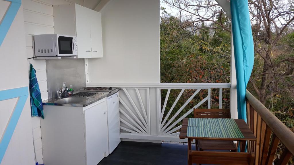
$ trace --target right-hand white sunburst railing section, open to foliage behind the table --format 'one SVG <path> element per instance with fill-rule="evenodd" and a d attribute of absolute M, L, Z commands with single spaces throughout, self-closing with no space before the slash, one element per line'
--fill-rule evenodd
<path fill-rule="evenodd" d="M 163 106 L 160 106 L 159 109 L 159 135 L 178 136 L 182 127 L 182 120 L 186 117 L 193 117 L 194 108 L 211 108 L 211 88 L 179 87 L 177 89 L 158 88 L 158 90 L 160 90 L 161 94 L 166 93 Z M 173 95 L 170 98 L 171 93 Z M 173 101 L 175 96 L 177 97 Z M 219 88 L 218 98 L 219 108 L 221 108 L 222 88 Z M 170 105 L 168 105 L 168 102 Z"/>

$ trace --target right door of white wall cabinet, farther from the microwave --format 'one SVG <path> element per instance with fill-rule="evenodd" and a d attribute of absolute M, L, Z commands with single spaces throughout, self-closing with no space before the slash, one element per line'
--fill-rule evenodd
<path fill-rule="evenodd" d="M 91 47 L 92 58 L 103 57 L 101 14 L 91 10 Z"/>

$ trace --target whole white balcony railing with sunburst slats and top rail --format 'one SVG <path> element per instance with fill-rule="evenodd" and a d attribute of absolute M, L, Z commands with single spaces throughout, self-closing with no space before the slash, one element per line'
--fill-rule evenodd
<path fill-rule="evenodd" d="M 230 83 L 87 84 L 95 86 L 121 88 L 121 138 L 180 142 L 185 141 L 178 138 L 183 118 L 191 117 L 194 108 L 211 108 L 212 97 L 217 98 L 213 106 L 222 108 L 229 99 L 223 98 L 223 88 Z"/>

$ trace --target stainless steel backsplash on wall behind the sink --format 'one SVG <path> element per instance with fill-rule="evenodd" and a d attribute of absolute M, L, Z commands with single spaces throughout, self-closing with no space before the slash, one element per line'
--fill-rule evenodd
<path fill-rule="evenodd" d="M 48 98 L 57 97 L 57 90 L 66 86 L 74 86 L 79 90 L 86 86 L 84 59 L 51 59 L 46 60 Z"/>

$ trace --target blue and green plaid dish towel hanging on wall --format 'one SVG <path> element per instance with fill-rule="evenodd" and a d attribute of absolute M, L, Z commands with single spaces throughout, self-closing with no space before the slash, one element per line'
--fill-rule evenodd
<path fill-rule="evenodd" d="M 42 119 L 44 119 L 41 92 L 36 77 L 36 70 L 34 69 L 32 64 L 30 65 L 29 85 L 31 98 L 31 115 L 41 116 Z"/>

